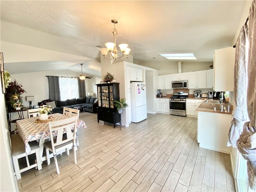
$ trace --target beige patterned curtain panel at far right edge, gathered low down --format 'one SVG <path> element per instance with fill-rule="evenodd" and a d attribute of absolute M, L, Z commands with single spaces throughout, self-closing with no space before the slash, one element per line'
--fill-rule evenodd
<path fill-rule="evenodd" d="M 243 127 L 237 144 L 237 149 L 247 160 L 249 185 L 256 190 L 256 1 L 252 1 L 248 24 L 248 89 L 247 111 L 250 121 Z"/>

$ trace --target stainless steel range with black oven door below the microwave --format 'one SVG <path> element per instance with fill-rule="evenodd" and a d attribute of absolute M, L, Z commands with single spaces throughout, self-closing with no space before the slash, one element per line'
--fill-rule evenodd
<path fill-rule="evenodd" d="M 174 92 L 170 98 L 170 114 L 186 117 L 187 92 Z"/>

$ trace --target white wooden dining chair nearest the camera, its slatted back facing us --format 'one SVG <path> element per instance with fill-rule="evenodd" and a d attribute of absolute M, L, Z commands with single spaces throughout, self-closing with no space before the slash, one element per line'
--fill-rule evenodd
<path fill-rule="evenodd" d="M 57 173 L 60 174 L 58 162 L 57 162 L 57 153 L 61 150 L 67 149 L 69 150 L 70 147 L 73 148 L 73 157 L 74 157 L 74 164 L 76 164 L 76 122 L 77 117 L 71 117 L 59 121 L 52 121 L 49 122 L 50 128 L 50 137 L 51 141 L 44 143 L 46 148 L 46 156 L 47 156 L 47 163 L 50 164 L 50 152 L 53 153 L 54 162 L 56 165 Z M 72 132 L 72 127 L 74 126 L 74 132 Z M 64 136 L 64 129 L 66 129 L 66 136 Z M 57 136 L 54 135 L 54 132 L 57 132 Z M 54 138 L 56 136 L 56 138 Z"/>

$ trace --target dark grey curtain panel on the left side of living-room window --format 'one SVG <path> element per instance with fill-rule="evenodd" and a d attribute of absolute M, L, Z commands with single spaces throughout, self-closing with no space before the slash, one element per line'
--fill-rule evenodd
<path fill-rule="evenodd" d="M 49 86 L 49 99 L 52 101 L 60 100 L 59 77 L 47 76 Z"/>

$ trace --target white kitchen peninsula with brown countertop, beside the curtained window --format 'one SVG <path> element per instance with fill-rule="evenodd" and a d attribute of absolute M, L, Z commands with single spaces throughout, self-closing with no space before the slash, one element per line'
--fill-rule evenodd
<path fill-rule="evenodd" d="M 197 136 L 202 148 L 230 154 L 227 147 L 228 132 L 232 120 L 232 104 L 228 102 L 204 101 L 198 112 Z"/>

